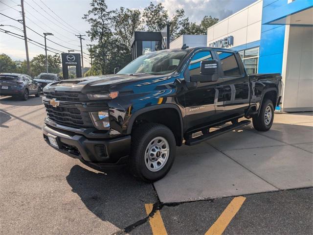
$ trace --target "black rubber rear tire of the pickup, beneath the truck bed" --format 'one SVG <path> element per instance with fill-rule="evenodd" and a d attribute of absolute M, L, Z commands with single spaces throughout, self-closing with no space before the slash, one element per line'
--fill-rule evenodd
<path fill-rule="evenodd" d="M 268 118 L 268 110 L 270 110 L 270 118 Z M 274 105 L 271 100 L 264 100 L 259 115 L 252 117 L 253 127 L 258 131 L 268 131 L 273 124 L 273 120 Z"/>

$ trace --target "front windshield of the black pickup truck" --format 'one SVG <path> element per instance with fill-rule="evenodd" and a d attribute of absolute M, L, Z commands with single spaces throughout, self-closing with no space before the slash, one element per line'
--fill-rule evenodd
<path fill-rule="evenodd" d="M 123 69 L 118 71 L 119 74 L 166 74 L 173 72 L 179 66 L 181 60 L 186 56 L 188 51 L 156 51 L 139 56 Z"/>

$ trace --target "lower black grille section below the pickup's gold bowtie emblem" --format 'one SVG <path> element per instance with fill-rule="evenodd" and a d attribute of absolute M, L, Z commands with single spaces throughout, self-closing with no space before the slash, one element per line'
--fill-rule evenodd
<path fill-rule="evenodd" d="M 52 105 L 44 102 L 47 117 L 57 124 L 73 127 L 73 128 L 89 128 L 93 127 L 88 112 L 81 112 L 75 107 L 52 107 Z"/>

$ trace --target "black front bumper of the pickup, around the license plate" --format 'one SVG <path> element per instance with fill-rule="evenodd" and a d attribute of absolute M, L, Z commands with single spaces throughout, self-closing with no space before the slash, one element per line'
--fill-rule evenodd
<path fill-rule="evenodd" d="M 131 148 L 131 136 L 114 139 L 88 139 L 77 133 L 63 131 L 44 125 L 45 141 L 48 136 L 56 137 L 58 151 L 83 162 L 101 165 L 125 164 Z"/>

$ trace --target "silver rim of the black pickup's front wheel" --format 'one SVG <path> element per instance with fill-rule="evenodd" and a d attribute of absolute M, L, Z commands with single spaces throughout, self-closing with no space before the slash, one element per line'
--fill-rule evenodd
<path fill-rule="evenodd" d="M 149 142 L 145 151 L 145 164 L 152 172 L 159 171 L 167 163 L 170 145 L 163 137 L 156 137 Z"/>

